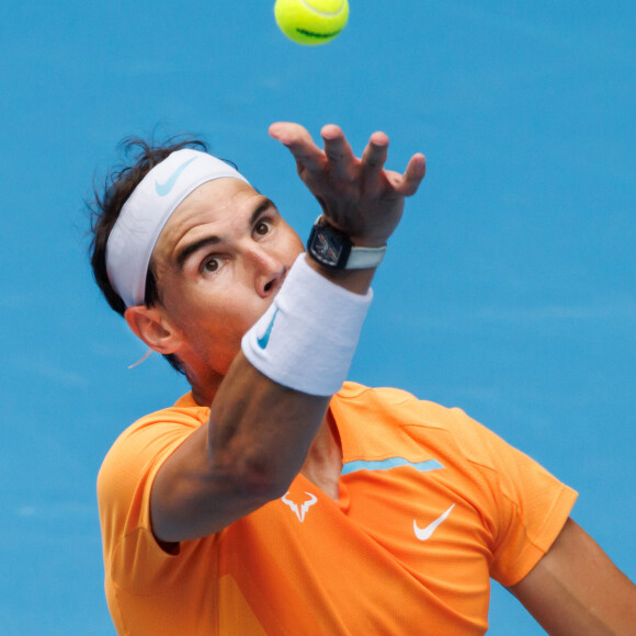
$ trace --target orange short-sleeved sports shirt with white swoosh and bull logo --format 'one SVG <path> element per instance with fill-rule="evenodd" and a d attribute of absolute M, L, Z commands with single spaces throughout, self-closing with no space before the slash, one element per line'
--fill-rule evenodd
<path fill-rule="evenodd" d="M 489 578 L 521 580 L 576 499 L 458 409 L 347 383 L 331 412 L 340 498 L 302 475 L 282 498 L 169 555 L 149 526 L 162 462 L 209 410 L 190 395 L 143 418 L 98 481 L 120 634 L 484 634 Z"/>

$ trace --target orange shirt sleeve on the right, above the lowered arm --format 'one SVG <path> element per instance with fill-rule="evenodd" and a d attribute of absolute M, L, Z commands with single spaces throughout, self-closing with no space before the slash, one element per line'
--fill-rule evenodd
<path fill-rule="evenodd" d="M 492 561 L 490 576 L 503 586 L 523 579 L 549 549 L 577 498 L 521 451 L 453 409 L 467 457 L 491 493 Z"/>

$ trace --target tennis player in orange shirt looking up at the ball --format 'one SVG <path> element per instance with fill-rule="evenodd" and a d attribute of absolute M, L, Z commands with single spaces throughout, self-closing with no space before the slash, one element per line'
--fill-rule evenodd
<path fill-rule="evenodd" d="M 383 133 L 361 158 L 333 125 L 322 149 L 270 133 L 322 209 L 306 248 L 194 141 L 138 141 L 96 197 L 98 284 L 192 387 L 100 472 L 117 632 L 476 635 L 493 578 L 550 634 L 636 634 L 573 490 L 458 409 L 345 382 L 424 157 L 400 174 Z"/>

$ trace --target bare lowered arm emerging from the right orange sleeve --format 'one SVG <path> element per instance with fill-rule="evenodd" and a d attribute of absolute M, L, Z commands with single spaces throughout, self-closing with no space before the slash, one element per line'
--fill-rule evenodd
<path fill-rule="evenodd" d="M 636 634 L 636 587 L 571 519 L 511 591 L 552 636 Z"/>

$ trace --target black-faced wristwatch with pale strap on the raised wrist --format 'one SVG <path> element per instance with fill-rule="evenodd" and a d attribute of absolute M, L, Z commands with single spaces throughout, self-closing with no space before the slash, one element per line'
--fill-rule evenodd
<path fill-rule="evenodd" d="M 386 246 L 381 248 L 357 248 L 339 229 L 329 225 L 320 215 L 309 235 L 307 253 L 330 270 L 366 270 L 382 263 Z"/>

